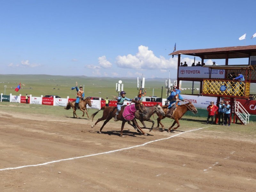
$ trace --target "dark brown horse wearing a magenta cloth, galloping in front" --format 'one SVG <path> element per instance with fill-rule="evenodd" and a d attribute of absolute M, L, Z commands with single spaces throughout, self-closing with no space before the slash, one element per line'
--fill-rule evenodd
<path fill-rule="evenodd" d="M 135 113 L 137 110 L 139 110 L 140 113 L 143 113 L 143 114 L 146 113 L 145 106 L 143 105 L 143 103 L 142 103 L 141 101 L 132 101 L 131 103 L 135 103 L 135 104 L 134 104 L 135 110 L 132 111 L 133 115 L 134 115 L 134 113 Z M 117 115 L 117 120 L 122 121 L 120 136 L 121 136 L 121 137 L 124 137 L 124 135 L 123 135 L 123 129 L 124 129 L 124 124 L 125 124 L 127 121 L 128 121 L 128 122 L 129 122 L 129 121 L 134 122 L 134 124 L 138 127 L 138 129 L 140 130 L 140 132 L 141 132 L 143 135 L 147 136 L 148 134 L 142 131 L 142 129 L 141 129 L 140 126 L 138 125 L 138 123 L 137 123 L 135 117 L 132 117 L 133 119 L 129 119 L 129 120 L 126 120 L 126 119 L 123 117 L 124 108 L 125 108 L 125 107 L 130 107 L 130 106 L 131 106 L 131 105 L 123 105 L 123 106 L 121 107 L 121 111 L 120 111 L 119 114 Z M 106 120 L 106 121 L 104 121 L 103 125 L 101 126 L 99 133 L 101 133 L 101 131 L 102 131 L 103 127 L 105 126 L 105 124 L 107 124 L 110 119 L 112 119 L 113 117 L 115 117 L 116 111 L 117 111 L 117 107 L 112 107 L 112 106 L 106 107 L 106 106 L 103 106 L 103 107 L 101 107 L 100 110 L 103 110 L 102 117 L 99 118 L 99 119 L 96 121 L 96 123 L 95 123 L 94 125 L 92 125 L 92 128 L 93 128 L 98 122 L 103 121 L 103 120 Z M 95 113 L 93 113 L 93 114 L 91 115 L 92 121 L 93 121 L 93 118 L 95 117 L 95 115 L 96 115 L 100 110 L 96 111 Z M 132 114 L 131 114 L 131 115 L 132 115 Z M 137 128 L 136 128 L 136 129 L 137 129 Z"/>

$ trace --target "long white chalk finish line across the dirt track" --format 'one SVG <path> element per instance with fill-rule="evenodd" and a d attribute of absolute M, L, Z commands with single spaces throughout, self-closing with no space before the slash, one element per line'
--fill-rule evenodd
<path fill-rule="evenodd" d="M 107 151 L 107 152 L 96 153 L 96 154 L 91 154 L 91 155 L 84 155 L 84 156 L 80 156 L 80 157 L 72 157 L 72 158 L 68 158 L 68 159 L 60 159 L 60 160 L 55 160 L 55 161 L 49 161 L 49 162 L 46 162 L 46 163 L 41 163 L 41 164 L 36 164 L 36 165 L 25 165 L 25 166 L 20 166 L 20 167 L 4 168 L 4 169 L 0 169 L 0 171 L 11 170 L 11 169 L 20 169 L 20 168 L 24 168 L 24 167 L 37 167 L 37 166 L 47 165 L 47 164 L 51 164 L 51 163 L 57 163 L 57 162 L 60 162 L 60 161 L 74 160 L 74 159 L 79 159 L 79 158 L 84 158 L 84 157 L 92 157 L 92 156 L 96 156 L 96 155 L 114 153 L 114 152 L 117 152 L 117 151 L 123 151 L 123 150 L 127 150 L 127 149 L 132 149 L 132 148 L 135 148 L 135 147 L 145 146 L 145 145 L 148 145 L 149 143 L 153 143 L 153 142 L 156 142 L 156 141 L 161 141 L 161 140 L 164 140 L 164 139 L 171 139 L 172 137 L 176 137 L 176 136 L 181 135 L 183 133 L 197 131 L 197 130 L 200 130 L 200 129 L 203 129 L 203 128 L 206 128 L 206 127 L 201 127 L 201 128 L 198 128 L 198 129 L 178 133 L 176 135 L 172 135 L 171 137 L 167 137 L 167 138 L 163 138 L 163 139 L 157 139 L 157 140 L 149 141 L 149 142 L 141 144 L 141 145 L 136 145 L 136 146 L 127 147 L 127 148 L 123 148 L 123 149 L 116 149 L 116 150 L 113 150 L 113 151 Z"/>

